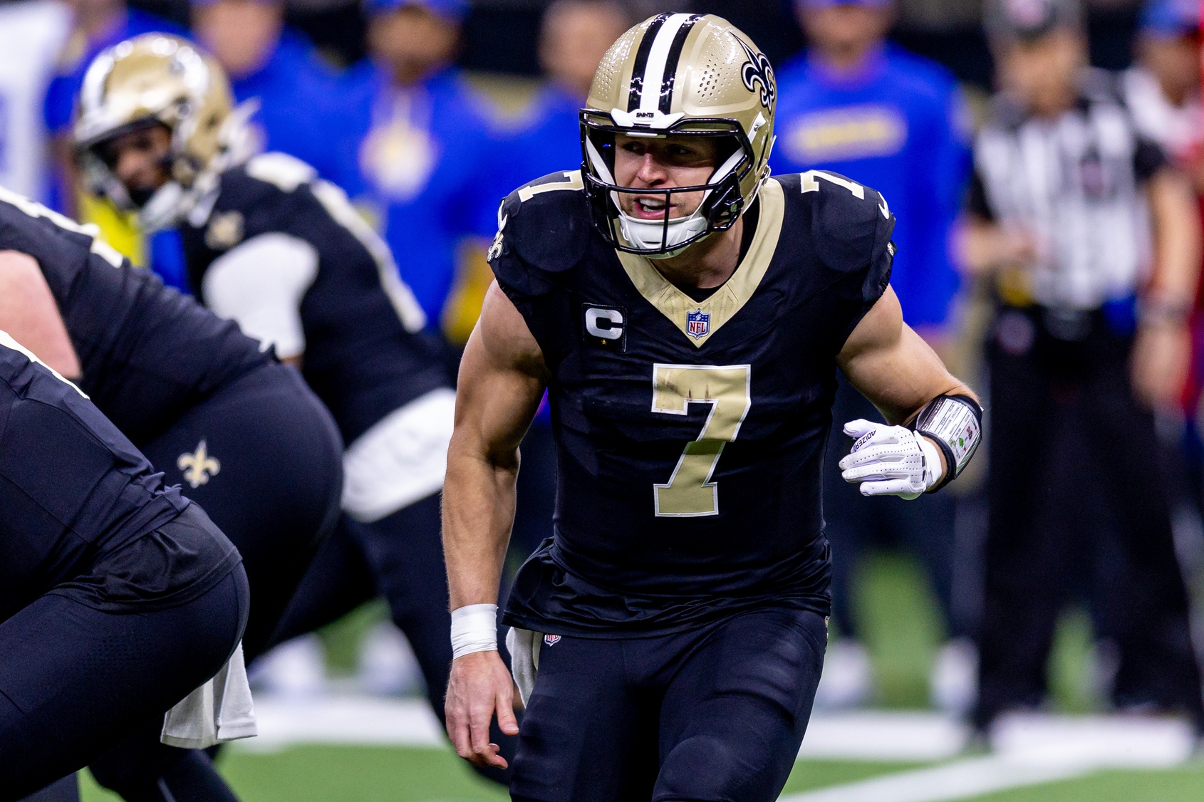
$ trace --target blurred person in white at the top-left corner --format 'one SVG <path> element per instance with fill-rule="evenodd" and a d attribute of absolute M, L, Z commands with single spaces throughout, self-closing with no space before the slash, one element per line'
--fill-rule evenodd
<path fill-rule="evenodd" d="M 48 200 L 42 100 L 71 10 L 59 0 L 0 4 L 0 185 Z"/>

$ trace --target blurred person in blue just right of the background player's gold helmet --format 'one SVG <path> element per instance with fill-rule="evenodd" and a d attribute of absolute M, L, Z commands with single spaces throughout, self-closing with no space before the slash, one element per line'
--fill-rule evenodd
<path fill-rule="evenodd" d="M 193 30 L 225 67 L 235 100 L 259 104 L 252 118 L 259 149 L 288 153 L 335 179 L 335 76 L 305 36 L 284 26 L 284 2 L 193 0 Z"/>

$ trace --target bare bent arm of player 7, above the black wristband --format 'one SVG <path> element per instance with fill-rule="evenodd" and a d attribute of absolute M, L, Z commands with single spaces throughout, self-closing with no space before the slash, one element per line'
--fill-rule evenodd
<path fill-rule="evenodd" d="M 903 323 L 898 297 L 889 287 L 849 335 L 837 362 L 891 424 L 909 421 L 938 395 L 967 395 L 978 401 L 974 391 Z"/>

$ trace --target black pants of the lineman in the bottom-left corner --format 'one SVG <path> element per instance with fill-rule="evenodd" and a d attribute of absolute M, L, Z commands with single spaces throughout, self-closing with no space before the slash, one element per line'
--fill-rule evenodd
<path fill-rule="evenodd" d="M 65 586 L 0 623 L 0 800 L 81 768 L 147 719 L 161 727 L 164 712 L 229 660 L 249 607 L 237 565 L 178 605 L 118 612 L 98 609 L 94 596 Z M 75 797 L 75 776 L 58 790 Z"/>

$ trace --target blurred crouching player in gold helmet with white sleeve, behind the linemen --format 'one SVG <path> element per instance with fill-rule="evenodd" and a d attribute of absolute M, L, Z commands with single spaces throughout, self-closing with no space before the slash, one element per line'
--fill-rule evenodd
<path fill-rule="evenodd" d="M 148 228 L 179 226 L 197 297 L 299 364 L 348 443 L 344 517 L 277 635 L 383 594 L 442 717 L 452 648 L 438 491 L 455 394 L 441 341 L 342 190 L 293 157 L 241 152 L 242 130 L 220 66 L 147 34 L 89 69 L 76 141 L 94 189 Z"/>

